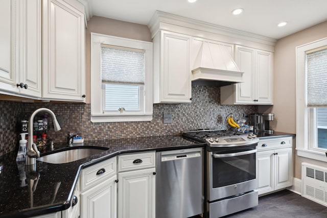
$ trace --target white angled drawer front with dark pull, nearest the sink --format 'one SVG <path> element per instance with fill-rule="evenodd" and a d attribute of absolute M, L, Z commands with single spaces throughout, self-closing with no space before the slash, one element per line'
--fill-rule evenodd
<path fill-rule="evenodd" d="M 81 191 L 93 187 L 116 174 L 116 157 L 82 169 Z"/>

